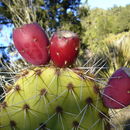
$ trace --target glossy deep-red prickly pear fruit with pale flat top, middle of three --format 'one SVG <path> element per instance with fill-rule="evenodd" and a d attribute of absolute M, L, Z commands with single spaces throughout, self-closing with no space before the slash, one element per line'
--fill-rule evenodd
<path fill-rule="evenodd" d="M 80 40 L 77 34 L 70 31 L 58 31 L 51 38 L 50 56 L 58 67 L 67 67 L 76 60 Z"/>

